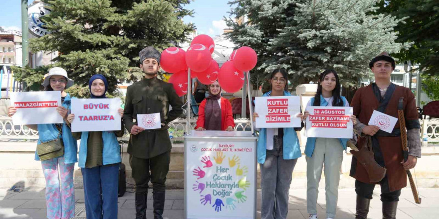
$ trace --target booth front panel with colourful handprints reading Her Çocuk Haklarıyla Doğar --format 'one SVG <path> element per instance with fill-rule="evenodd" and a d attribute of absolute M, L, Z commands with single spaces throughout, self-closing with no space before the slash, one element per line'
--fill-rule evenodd
<path fill-rule="evenodd" d="M 253 219 L 254 141 L 188 141 L 188 219 Z"/>

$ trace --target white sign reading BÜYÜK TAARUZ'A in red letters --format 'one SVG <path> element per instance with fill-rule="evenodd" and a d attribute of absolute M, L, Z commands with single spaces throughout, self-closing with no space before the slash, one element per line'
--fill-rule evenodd
<path fill-rule="evenodd" d="M 72 131 L 117 131 L 121 117 L 120 99 L 72 99 Z"/>

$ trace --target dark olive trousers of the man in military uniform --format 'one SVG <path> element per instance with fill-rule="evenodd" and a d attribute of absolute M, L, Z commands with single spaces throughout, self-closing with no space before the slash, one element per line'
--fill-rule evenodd
<path fill-rule="evenodd" d="M 130 154 L 131 176 L 136 182 L 136 193 L 147 192 L 150 180 L 154 192 L 165 192 L 170 162 L 171 151 L 149 159 L 138 158 Z"/>

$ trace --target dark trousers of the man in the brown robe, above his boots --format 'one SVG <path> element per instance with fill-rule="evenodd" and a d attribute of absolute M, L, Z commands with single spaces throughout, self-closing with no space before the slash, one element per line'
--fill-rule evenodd
<path fill-rule="evenodd" d="M 381 201 L 382 202 L 398 202 L 401 196 L 401 190 L 395 190 L 393 192 L 389 191 L 389 185 L 387 181 L 387 176 L 380 183 L 381 186 Z M 372 194 L 374 193 L 375 184 L 363 183 L 355 180 L 355 192 L 357 195 L 372 199 Z"/>

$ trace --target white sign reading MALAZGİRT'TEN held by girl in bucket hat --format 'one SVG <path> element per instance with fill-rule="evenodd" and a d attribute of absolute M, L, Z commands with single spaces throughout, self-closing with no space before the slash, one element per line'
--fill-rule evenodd
<path fill-rule="evenodd" d="M 13 92 L 10 105 L 17 109 L 14 125 L 63 123 L 56 108 L 61 106 L 61 92 Z"/>

